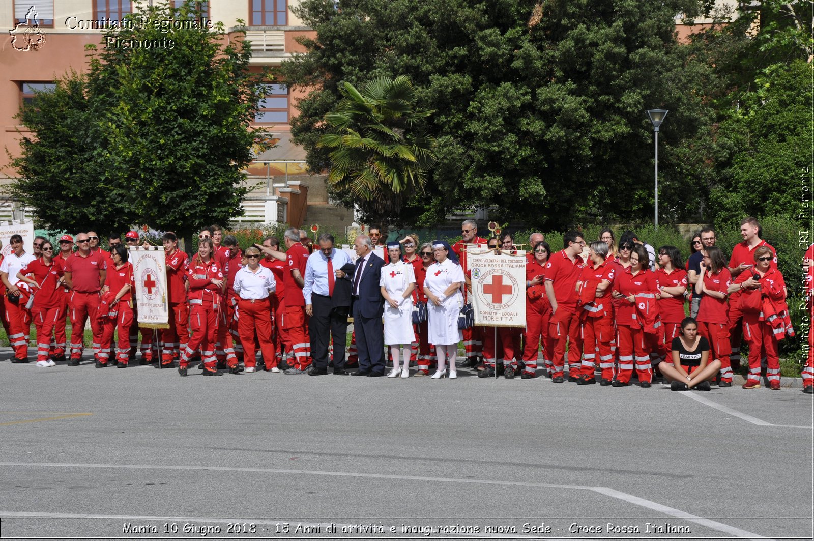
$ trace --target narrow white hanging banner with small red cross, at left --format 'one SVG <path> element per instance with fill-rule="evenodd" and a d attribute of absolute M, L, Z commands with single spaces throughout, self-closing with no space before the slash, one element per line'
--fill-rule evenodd
<path fill-rule="evenodd" d="M 129 260 L 133 263 L 136 283 L 135 311 L 138 326 L 169 328 L 167 301 L 167 264 L 163 246 L 130 246 Z"/>

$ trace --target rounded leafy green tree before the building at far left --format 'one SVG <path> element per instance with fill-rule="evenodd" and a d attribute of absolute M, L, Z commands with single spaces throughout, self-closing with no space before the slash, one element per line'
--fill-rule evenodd
<path fill-rule="evenodd" d="M 58 81 L 20 113 L 36 139 L 15 160 L 15 195 L 46 227 L 148 223 L 189 235 L 242 213 L 241 171 L 259 142 L 249 123 L 264 94 L 242 33 L 166 27 L 194 20 L 195 2 L 137 11 L 103 48 L 90 46 L 86 75 Z M 161 45 L 116 46 L 131 40 Z"/>

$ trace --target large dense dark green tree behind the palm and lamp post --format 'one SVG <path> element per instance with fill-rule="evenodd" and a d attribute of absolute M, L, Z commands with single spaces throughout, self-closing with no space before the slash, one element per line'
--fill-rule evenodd
<path fill-rule="evenodd" d="M 405 75 L 417 108 L 436 111 L 428 134 L 438 161 L 400 222 L 431 225 L 449 209 L 492 205 L 501 221 L 544 228 L 575 215 L 649 218 L 646 109 L 671 110 L 662 151 L 711 124 L 694 91 L 707 73 L 673 35 L 676 13 L 697 10 L 694 0 L 304 0 L 295 11 L 317 37 L 282 67 L 291 86 L 309 90 L 292 134 L 312 169 L 328 169 L 317 142 L 342 83 Z M 664 171 L 683 158 L 659 157 Z M 673 174 L 666 187 L 684 181 Z M 666 194 L 665 220 L 693 206 L 679 187 Z"/>

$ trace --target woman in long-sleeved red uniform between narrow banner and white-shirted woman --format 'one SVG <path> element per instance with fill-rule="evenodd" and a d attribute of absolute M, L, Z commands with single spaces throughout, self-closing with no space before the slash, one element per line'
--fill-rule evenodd
<path fill-rule="evenodd" d="M 198 253 L 192 258 L 189 269 L 186 271 L 187 281 L 190 284 L 190 323 L 192 336 L 182 351 L 178 374 L 187 375 L 190 357 L 195 350 L 200 350 L 204 359 L 204 376 L 223 376 L 217 369 L 215 357 L 215 336 L 217 333 L 217 311 L 222 310 L 221 296 L 225 291 L 223 270 L 213 257 L 215 245 L 209 238 L 200 239 Z M 235 364 L 230 372 L 237 374 L 239 367 Z"/>

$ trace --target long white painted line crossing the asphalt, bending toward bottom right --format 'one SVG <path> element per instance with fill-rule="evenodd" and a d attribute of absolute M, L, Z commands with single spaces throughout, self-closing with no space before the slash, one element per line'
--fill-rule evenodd
<path fill-rule="evenodd" d="M 714 402 L 713 402 L 714 403 Z M 72 463 L 26 463 L 26 462 L 0 462 L 0 466 L 11 467 L 33 467 L 33 468 L 114 468 L 114 469 L 163 469 L 163 470 L 187 470 L 187 471 L 218 471 L 218 472 L 246 472 L 246 473 L 282 473 L 299 475 L 322 475 L 328 477 L 362 477 L 368 479 L 394 479 L 400 481 L 426 481 L 441 483 L 462 483 L 470 485 L 499 485 L 499 486 L 527 486 L 534 488 L 561 488 L 567 490 L 590 490 L 597 494 L 610 496 L 610 498 L 620 499 L 628 504 L 662 512 L 669 517 L 683 518 L 689 522 L 694 522 L 701 526 L 707 526 L 712 530 L 718 530 L 725 534 L 733 535 L 741 539 L 769 539 L 763 535 L 755 534 L 746 530 L 741 530 L 723 522 L 713 521 L 708 518 L 698 517 L 681 509 L 671 508 L 667 505 L 657 504 L 649 499 L 639 498 L 611 489 L 607 486 L 585 486 L 585 485 L 560 485 L 555 483 L 532 483 L 522 481 L 495 481 L 490 479 L 461 479 L 457 477 L 423 477 L 414 475 L 392 475 L 387 473 L 351 473 L 351 472 L 325 472 L 305 469 L 276 469 L 276 468 L 234 468 L 229 466 L 150 466 L 142 464 L 72 464 Z M 0 516 L 4 513 L 0 512 Z M 540 539 L 532 537 L 529 539 Z"/>

